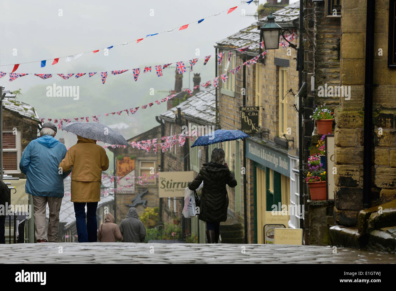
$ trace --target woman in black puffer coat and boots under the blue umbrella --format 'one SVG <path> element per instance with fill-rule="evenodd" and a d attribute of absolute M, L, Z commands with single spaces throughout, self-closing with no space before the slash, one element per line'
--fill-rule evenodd
<path fill-rule="evenodd" d="M 227 220 L 228 194 L 225 185 L 235 187 L 236 179 L 224 160 L 223 149 L 213 149 L 211 161 L 204 164 L 198 176 L 188 184 L 192 191 L 204 181 L 199 219 L 206 221 L 206 236 L 209 244 L 217 244 L 220 222 Z"/>

